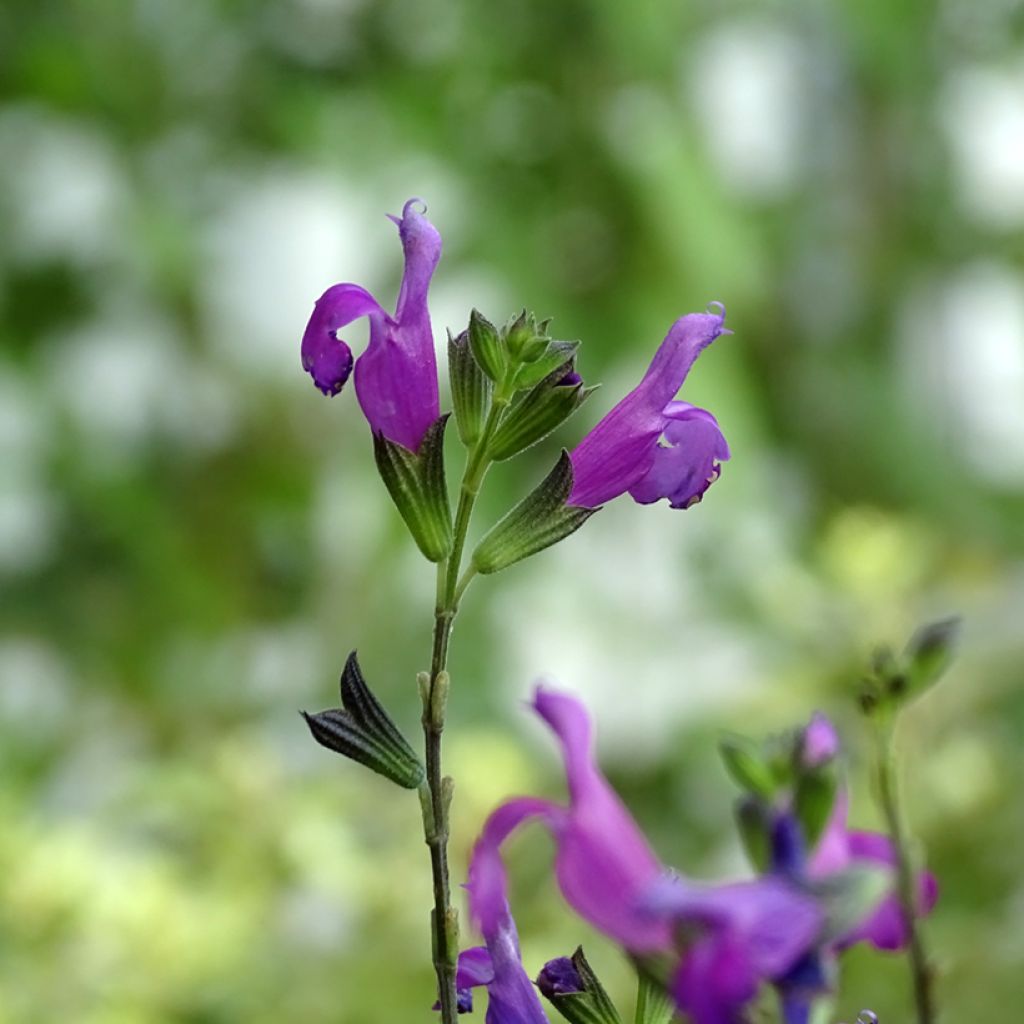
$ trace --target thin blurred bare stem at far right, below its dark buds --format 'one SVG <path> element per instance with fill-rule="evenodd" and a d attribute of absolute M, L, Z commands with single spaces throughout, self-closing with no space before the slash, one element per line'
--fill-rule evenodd
<path fill-rule="evenodd" d="M 886 819 L 889 838 L 896 851 L 896 891 L 907 933 L 907 957 L 913 982 L 913 1001 L 918 1024 L 935 1024 L 935 998 L 932 989 L 932 967 L 925 948 L 925 939 L 918 927 L 918 885 L 913 858 L 910 854 L 906 823 L 900 805 L 896 754 L 892 725 L 878 728 L 879 803 Z"/>

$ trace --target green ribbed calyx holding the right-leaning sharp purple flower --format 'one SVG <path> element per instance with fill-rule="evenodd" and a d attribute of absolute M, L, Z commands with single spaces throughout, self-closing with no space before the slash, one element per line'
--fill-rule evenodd
<path fill-rule="evenodd" d="M 571 490 L 572 462 L 563 450 L 555 468 L 476 546 L 476 571 L 498 572 L 574 534 L 597 509 L 566 505 Z"/>

